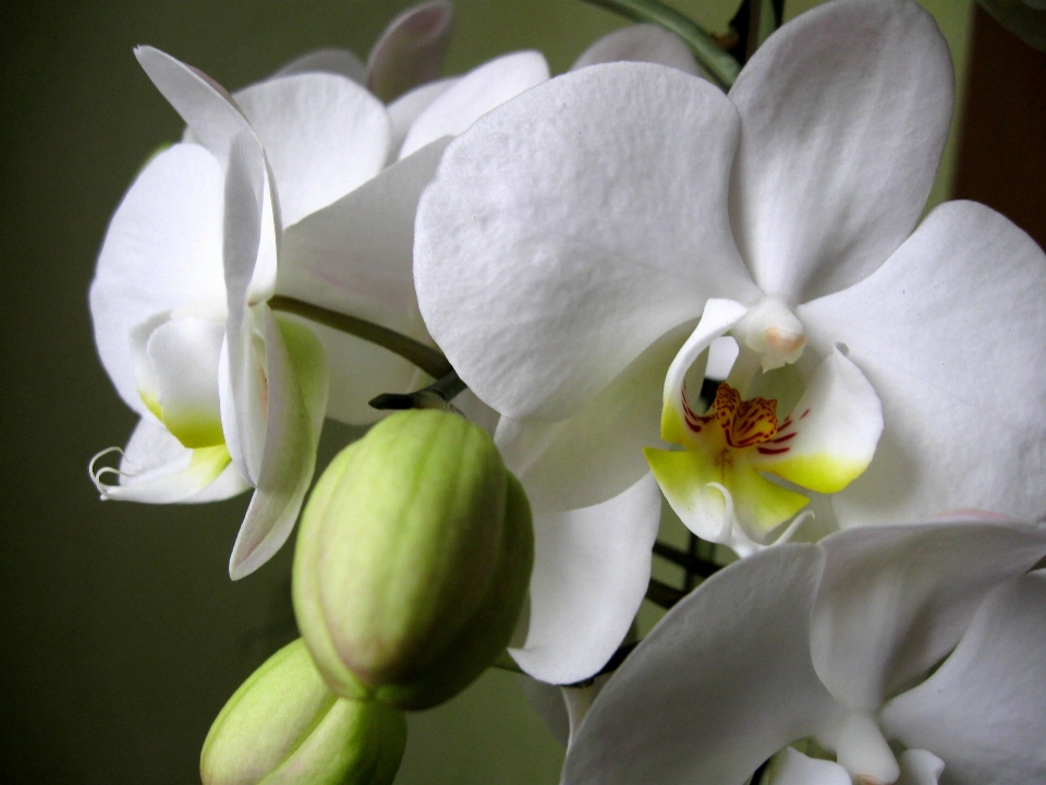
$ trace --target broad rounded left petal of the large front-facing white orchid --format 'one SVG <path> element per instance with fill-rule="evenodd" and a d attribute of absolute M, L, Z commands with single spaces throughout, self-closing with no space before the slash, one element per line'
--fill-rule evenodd
<path fill-rule="evenodd" d="M 737 122 L 646 63 L 552 80 L 451 143 L 418 206 L 422 314 L 513 418 L 591 401 L 708 297 L 753 294 L 725 215 Z"/>

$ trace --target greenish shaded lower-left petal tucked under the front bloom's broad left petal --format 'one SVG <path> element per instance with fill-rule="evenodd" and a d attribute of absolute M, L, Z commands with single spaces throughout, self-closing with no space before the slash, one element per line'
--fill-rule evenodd
<path fill-rule="evenodd" d="M 567 420 L 501 419 L 498 448 L 535 514 L 606 502 L 649 472 L 643 448 L 661 445 L 661 379 L 685 334 L 658 340 Z"/>

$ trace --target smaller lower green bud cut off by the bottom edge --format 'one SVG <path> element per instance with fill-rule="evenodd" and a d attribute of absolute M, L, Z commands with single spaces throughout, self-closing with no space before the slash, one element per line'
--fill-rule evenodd
<path fill-rule="evenodd" d="M 226 703 L 199 774 L 204 785 L 389 785 L 405 745 L 403 712 L 338 698 L 299 639 Z"/>

